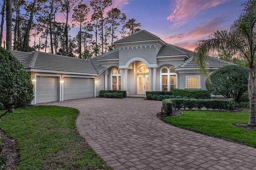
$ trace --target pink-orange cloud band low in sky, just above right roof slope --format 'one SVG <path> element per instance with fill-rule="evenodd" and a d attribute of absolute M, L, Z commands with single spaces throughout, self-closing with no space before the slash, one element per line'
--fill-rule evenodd
<path fill-rule="evenodd" d="M 202 40 L 217 30 L 228 29 L 224 28 L 223 22 L 226 22 L 223 18 L 214 18 L 204 25 L 197 26 L 188 33 L 174 34 L 163 40 L 167 43 L 194 51 L 195 45 L 199 40 Z"/>

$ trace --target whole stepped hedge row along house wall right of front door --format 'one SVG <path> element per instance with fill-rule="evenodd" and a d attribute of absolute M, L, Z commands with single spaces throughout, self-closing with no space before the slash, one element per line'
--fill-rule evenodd
<path fill-rule="evenodd" d="M 207 90 L 172 89 L 171 91 L 146 91 L 146 95 L 170 95 L 186 96 L 194 99 L 210 99 L 211 94 Z"/>

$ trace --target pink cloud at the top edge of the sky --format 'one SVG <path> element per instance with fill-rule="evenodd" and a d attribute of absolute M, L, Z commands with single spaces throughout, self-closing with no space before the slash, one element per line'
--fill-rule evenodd
<path fill-rule="evenodd" d="M 176 8 L 167 20 L 174 25 L 184 24 L 200 11 L 226 3 L 227 0 L 176 0 Z"/>

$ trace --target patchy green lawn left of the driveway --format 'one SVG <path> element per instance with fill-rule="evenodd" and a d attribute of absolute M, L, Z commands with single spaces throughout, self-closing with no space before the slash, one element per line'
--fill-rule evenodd
<path fill-rule="evenodd" d="M 0 128 L 18 144 L 18 170 L 112 169 L 77 132 L 78 113 L 68 107 L 34 106 L 2 117 Z"/>

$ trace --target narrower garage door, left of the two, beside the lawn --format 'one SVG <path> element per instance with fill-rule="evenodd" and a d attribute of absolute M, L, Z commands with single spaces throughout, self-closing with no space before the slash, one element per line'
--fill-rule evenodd
<path fill-rule="evenodd" d="M 36 103 L 58 101 L 58 77 L 36 77 Z"/>

